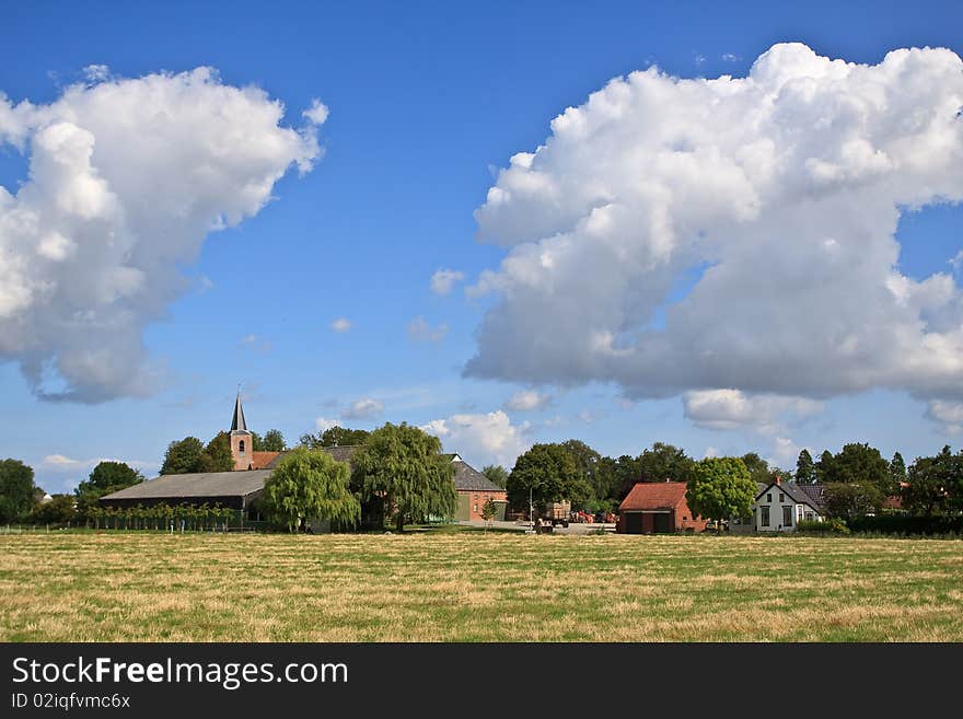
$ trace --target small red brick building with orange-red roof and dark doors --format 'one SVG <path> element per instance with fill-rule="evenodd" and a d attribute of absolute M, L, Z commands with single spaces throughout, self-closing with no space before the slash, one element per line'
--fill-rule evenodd
<path fill-rule="evenodd" d="M 684 482 L 640 482 L 618 506 L 615 531 L 620 534 L 701 532 L 706 520 L 693 517 Z"/>

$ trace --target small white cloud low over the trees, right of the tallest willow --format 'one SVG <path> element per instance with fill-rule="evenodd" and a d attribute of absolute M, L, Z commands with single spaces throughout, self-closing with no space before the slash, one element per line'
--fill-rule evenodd
<path fill-rule="evenodd" d="M 518 456 L 532 443 L 524 438 L 527 424 L 512 425 L 502 410 L 487 414 L 452 415 L 422 425 L 429 434 L 438 437 L 445 451 L 457 452 L 463 460 L 480 469 L 486 464 L 514 466 Z"/>

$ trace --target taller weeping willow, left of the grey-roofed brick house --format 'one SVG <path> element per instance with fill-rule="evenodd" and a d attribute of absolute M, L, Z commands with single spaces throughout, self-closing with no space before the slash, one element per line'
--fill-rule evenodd
<path fill-rule="evenodd" d="M 398 532 L 409 519 L 454 514 L 455 468 L 437 437 L 407 422 L 387 422 L 371 432 L 351 461 L 362 501 L 380 502 L 385 515 L 396 511 Z"/>

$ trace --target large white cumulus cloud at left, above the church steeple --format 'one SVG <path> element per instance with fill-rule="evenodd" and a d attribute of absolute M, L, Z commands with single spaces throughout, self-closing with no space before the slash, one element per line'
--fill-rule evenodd
<path fill-rule="evenodd" d="M 280 102 L 209 68 L 91 77 L 48 105 L 0 94 L 0 148 L 30 161 L 15 194 L 0 186 L 0 358 L 51 399 L 151 391 L 141 330 L 184 291 L 179 268 L 311 170 L 327 116 L 315 101 L 281 127 Z"/>

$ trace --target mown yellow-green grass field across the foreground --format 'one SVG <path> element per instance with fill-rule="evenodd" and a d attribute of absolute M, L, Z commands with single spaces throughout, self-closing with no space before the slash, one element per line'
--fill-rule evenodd
<path fill-rule="evenodd" d="M 963 641 L 963 542 L 0 535 L 4 641 Z"/>

